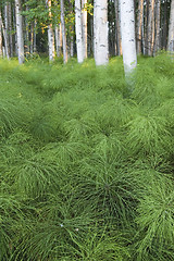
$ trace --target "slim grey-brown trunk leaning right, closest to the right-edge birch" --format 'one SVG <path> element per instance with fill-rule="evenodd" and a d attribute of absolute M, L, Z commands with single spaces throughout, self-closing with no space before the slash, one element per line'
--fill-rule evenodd
<path fill-rule="evenodd" d="M 154 50 L 153 54 L 160 49 L 160 9 L 161 9 L 161 0 L 157 0 L 156 7 L 156 40 L 154 40 Z"/>

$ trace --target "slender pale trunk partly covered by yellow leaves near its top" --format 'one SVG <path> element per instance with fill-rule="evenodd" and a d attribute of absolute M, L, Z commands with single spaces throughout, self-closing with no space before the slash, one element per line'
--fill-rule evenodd
<path fill-rule="evenodd" d="M 51 14 L 51 0 L 46 0 L 46 4 L 48 3 L 49 9 L 49 18 L 51 21 L 52 14 Z M 33 32 L 34 34 L 34 32 Z M 55 49 L 54 49 L 54 34 L 52 28 L 52 23 L 48 25 L 48 47 L 49 47 L 49 61 L 53 62 L 55 58 Z"/>

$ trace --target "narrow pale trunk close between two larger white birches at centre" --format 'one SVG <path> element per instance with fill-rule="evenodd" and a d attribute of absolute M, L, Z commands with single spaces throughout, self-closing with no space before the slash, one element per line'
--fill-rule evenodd
<path fill-rule="evenodd" d="M 87 0 L 82 0 L 82 27 L 83 27 L 83 52 L 84 59 L 88 57 L 87 54 L 87 10 L 85 9 Z"/>

